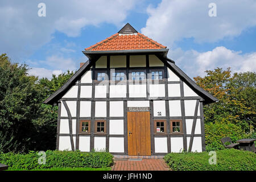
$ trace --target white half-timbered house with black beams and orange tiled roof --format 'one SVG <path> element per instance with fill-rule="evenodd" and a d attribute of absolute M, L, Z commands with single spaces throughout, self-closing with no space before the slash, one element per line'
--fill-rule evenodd
<path fill-rule="evenodd" d="M 203 105 L 217 99 L 168 59 L 166 46 L 127 23 L 82 52 L 88 61 L 44 101 L 59 106 L 57 150 L 205 150 Z"/>

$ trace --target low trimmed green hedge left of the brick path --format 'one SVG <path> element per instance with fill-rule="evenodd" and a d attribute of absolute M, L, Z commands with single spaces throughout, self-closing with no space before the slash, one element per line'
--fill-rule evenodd
<path fill-rule="evenodd" d="M 109 167 L 113 164 L 113 155 L 108 152 L 79 152 L 79 151 L 46 151 L 46 164 L 39 164 L 38 152 L 28 154 L 14 154 L 12 152 L 0 154 L 0 163 L 9 169 L 42 169 L 60 167 Z"/>

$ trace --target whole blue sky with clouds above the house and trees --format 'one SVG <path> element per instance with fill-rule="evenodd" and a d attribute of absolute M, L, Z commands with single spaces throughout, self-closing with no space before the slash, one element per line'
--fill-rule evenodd
<path fill-rule="evenodd" d="M 46 17 L 37 15 L 40 2 Z M 217 16 L 209 16 L 210 2 Z M 1 1 L 0 53 L 28 64 L 31 75 L 51 78 L 78 69 L 87 60 L 84 48 L 129 22 L 167 46 L 168 57 L 190 77 L 216 67 L 255 72 L 255 9 L 254 0 Z"/>

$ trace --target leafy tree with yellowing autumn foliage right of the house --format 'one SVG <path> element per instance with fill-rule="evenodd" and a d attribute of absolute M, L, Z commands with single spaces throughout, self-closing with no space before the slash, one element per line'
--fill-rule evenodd
<path fill-rule="evenodd" d="M 234 123 L 246 132 L 255 128 L 255 72 L 234 73 L 231 69 L 205 71 L 195 77 L 196 83 L 218 98 L 219 102 L 204 106 L 206 123 Z"/>

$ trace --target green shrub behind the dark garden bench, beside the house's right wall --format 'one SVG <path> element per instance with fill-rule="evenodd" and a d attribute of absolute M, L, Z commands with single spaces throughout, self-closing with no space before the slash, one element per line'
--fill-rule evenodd
<path fill-rule="evenodd" d="M 221 143 L 221 138 L 230 137 L 233 143 L 246 138 L 246 134 L 240 126 L 233 123 L 205 123 L 205 144 L 207 151 L 221 150 L 225 147 Z"/>

